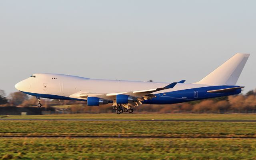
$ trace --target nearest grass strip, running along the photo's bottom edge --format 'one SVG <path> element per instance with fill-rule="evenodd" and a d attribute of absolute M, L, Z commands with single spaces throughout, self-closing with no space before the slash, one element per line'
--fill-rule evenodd
<path fill-rule="evenodd" d="M 2 158 L 25 160 L 255 160 L 256 140 L 2 138 L 0 151 Z"/>

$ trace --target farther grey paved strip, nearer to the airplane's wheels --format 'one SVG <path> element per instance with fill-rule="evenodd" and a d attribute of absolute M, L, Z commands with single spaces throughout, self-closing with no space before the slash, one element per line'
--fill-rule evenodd
<path fill-rule="evenodd" d="M 256 120 L 124 120 L 124 119 L 9 119 L 1 118 L 0 120 L 10 121 L 146 121 L 146 122 L 256 122 Z"/>

